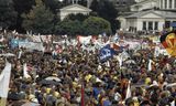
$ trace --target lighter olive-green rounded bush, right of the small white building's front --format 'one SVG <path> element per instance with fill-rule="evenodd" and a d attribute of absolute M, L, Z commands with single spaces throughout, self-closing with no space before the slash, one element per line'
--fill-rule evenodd
<path fill-rule="evenodd" d="M 84 26 L 84 33 L 86 35 L 90 34 L 100 34 L 100 33 L 111 33 L 111 26 L 110 23 L 102 19 L 102 18 L 98 18 L 98 17 L 89 17 L 88 19 L 86 19 L 82 23 Z"/>

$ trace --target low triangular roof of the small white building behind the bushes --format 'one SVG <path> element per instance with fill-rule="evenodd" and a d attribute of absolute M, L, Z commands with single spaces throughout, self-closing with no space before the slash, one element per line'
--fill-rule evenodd
<path fill-rule="evenodd" d="M 61 11 L 67 11 L 67 10 L 69 10 L 69 9 L 72 9 L 72 8 L 80 8 L 80 9 L 82 9 L 82 10 L 85 10 L 85 11 L 91 11 L 91 9 L 89 9 L 89 8 L 86 8 L 86 7 L 84 7 L 84 6 L 80 6 L 80 4 L 69 4 L 69 6 L 67 6 L 67 7 L 64 7 L 64 8 L 62 8 L 62 9 L 59 9 Z"/>

